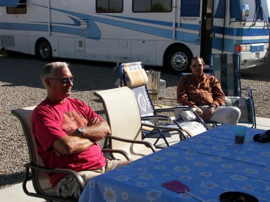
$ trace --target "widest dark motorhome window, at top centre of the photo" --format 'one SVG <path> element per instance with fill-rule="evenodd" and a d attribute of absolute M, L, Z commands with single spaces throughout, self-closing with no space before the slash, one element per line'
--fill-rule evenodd
<path fill-rule="evenodd" d="M 172 0 L 133 0 L 134 13 L 164 13 L 171 12 Z"/>

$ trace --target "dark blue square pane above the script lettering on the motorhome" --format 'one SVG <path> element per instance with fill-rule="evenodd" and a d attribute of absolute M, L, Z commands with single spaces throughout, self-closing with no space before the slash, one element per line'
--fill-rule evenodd
<path fill-rule="evenodd" d="M 181 17 L 200 17 L 200 0 L 181 1 Z"/>

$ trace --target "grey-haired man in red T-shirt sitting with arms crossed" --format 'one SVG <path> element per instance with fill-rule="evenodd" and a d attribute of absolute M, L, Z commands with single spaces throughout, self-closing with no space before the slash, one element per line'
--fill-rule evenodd
<path fill-rule="evenodd" d="M 67 63 L 44 66 L 41 81 L 47 97 L 33 111 L 32 131 L 44 166 L 74 170 L 87 183 L 92 177 L 129 163 L 103 156 L 97 141 L 111 134 L 110 127 L 91 107 L 69 98 L 73 76 Z M 81 194 L 70 175 L 48 175 L 59 196 L 78 198 Z"/>

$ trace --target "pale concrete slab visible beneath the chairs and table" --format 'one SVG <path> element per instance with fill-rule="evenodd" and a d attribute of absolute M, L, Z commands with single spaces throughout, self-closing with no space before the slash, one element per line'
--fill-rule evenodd
<path fill-rule="evenodd" d="M 257 129 L 270 130 L 270 119 L 256 117 Z M 240 124 L 239 124 L 240 125 Z M 241 124 L 245 125 L 245 124 Z M 246 125 L 247 126 L 247 125 Z M 31 182 L 27 183 L 29 191 L 34 192 L 34 188 Z M 22 183 L 12 185 L 10 187 L 0 190 L 0 201 L 3 202 L 45 202 L 42 198 L 36 198 L 28 196 L 23 192 Z"/>

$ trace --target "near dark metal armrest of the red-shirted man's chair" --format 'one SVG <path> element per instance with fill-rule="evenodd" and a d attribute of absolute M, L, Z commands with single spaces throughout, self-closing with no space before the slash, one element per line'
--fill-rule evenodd
<path fill-rule="evenodd" d="M 47 168 L 47 167 L 43 167 L 43 166 L 37 166 L 37 165 L 34 165 L 32 163 L 25 164 L 24 167 L 35 169 L 35 170 L 41 170 L 41 171 L 45 171 L 45 172 L 71 174 L 76 179 L 76 181 L 79 183 L 81 191 L 85 187 L 85 183 L 84 183 L 82 177 L 76 171 L 73 171 L 70 169 L 61 169 L 61 168 L 52 169 L 52 168 Z"/>

